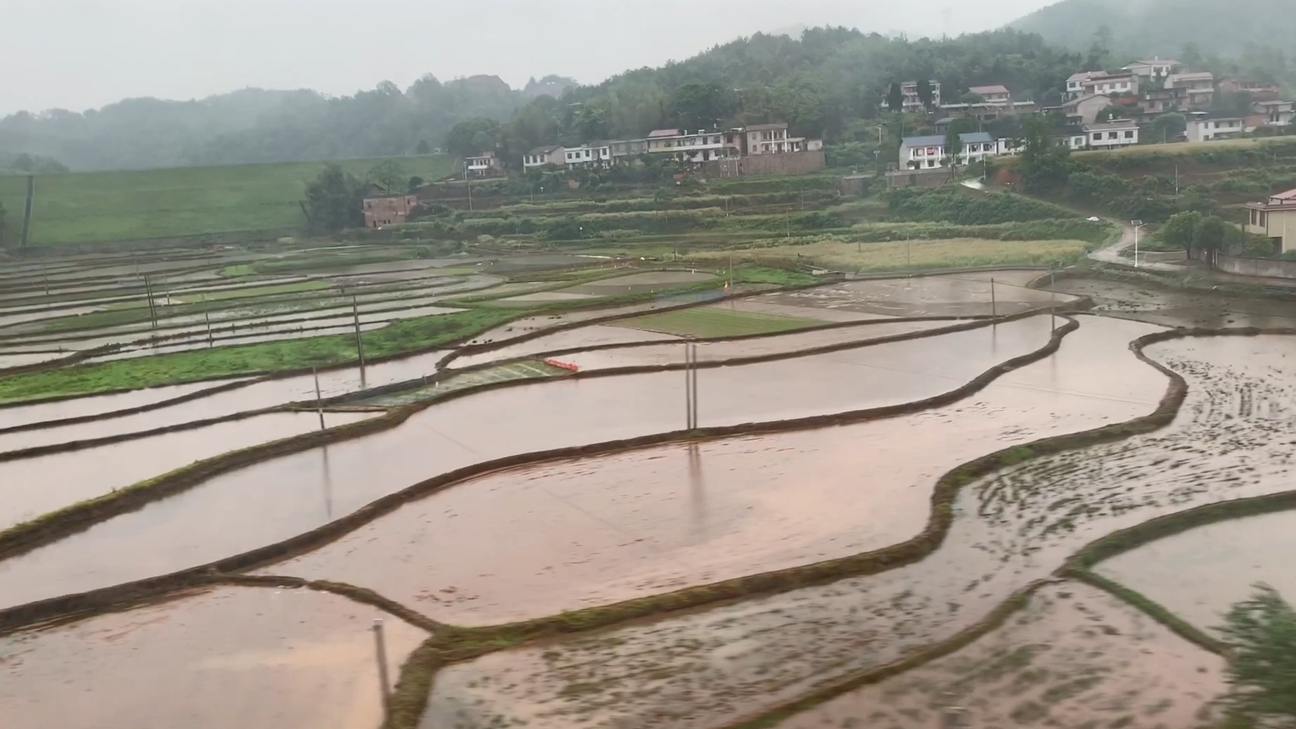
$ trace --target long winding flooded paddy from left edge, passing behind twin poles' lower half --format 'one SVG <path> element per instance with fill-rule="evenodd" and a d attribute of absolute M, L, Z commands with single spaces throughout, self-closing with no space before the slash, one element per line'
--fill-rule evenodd
<path fill-rule="evenodd" d="M 1048 317 L 778 363 L 700 370 L 705 425 L 894 404 L 1037 350 Z M 780 383 L 771 387 L 770 383 Z M 437 474 L 509 454 L 680 430 L 682 373 L 559 379 L 429 408 L 381 434 L 276 458 L 0 562 L 10 606 L 272 544 Z"/>

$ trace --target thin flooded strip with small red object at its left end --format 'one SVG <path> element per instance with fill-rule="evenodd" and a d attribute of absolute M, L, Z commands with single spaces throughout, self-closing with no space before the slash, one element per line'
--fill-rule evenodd
<path fill-rule="evenodd" d="M 718 361 L 732 357 L 752 357 L 780 352 L 796 352 L 813 347 L 840 344 L 846 342 L 866 342 L 881 337 L 907 334 L 910 331 L 923 331 L 938 326 L 950 326 L 950 321 L 899 321 L 893 324 L 872 324 L 868 326 L 851 326 L 846 329 L 829 329 L 824 331 L 801 331 L 788 334 L 771 334 L 759 339 L 740 339 L 737 342 L 709 342 L 697 346 L 699 361 Z M 578 352 L 560 355 L 564 363 L 572 363 L 582 370 L 609 369 L 618 366 L 638 365 L 664 365 L 680 364 L 684 361 L 684 347 L 682 343 L 647 344 L 643 347 L 626 347 L 623 350 L 605 350 L 596 352 Z"/>

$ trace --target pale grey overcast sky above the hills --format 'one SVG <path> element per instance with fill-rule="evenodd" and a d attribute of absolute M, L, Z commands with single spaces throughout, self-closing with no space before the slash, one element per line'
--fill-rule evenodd
<path fill-rule="evenodd" d="M 242 87 L 346 95 L 429 71 L 592 83 L 757 31 L 956 35 L 1052 0 L 61 0 L 53 14 L 52 1 L 0 0 L 0 114 Z"/>

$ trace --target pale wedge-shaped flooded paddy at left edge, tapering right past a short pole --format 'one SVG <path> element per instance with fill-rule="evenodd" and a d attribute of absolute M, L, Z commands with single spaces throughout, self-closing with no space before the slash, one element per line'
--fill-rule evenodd
<path fill-rule="evenodd" d="M 381 413 L 324 413 L 333 427 Z M 315 413 L 271 413 L 111 445 L 0 462 L 0 530 L 229 451 L 319 429 Z"/>

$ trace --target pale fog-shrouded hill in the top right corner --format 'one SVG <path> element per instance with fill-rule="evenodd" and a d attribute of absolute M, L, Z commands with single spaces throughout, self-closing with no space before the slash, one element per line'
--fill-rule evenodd
<path fill-rule="evenodd" d="M 1073 50 L 1098 40 L 1116 56 L 1218 63 L 1226 73 L 1267 71 L 1278 79 L 1296 75 L 1296 58 L 1279 53 L 1296 38 L 1293 0 L 1063 0 L 1010 27 Z M 1181 58 L 1185 53 L 1199 57 Z"/>

